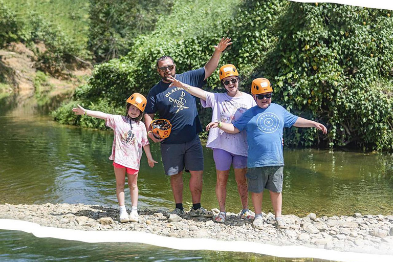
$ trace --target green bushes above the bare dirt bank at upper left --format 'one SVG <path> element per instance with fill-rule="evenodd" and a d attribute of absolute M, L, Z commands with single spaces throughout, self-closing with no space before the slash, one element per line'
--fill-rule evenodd
<path fill-rule="evenodd" d="M 53 76 L 70 74 L 78 60 L 88 57 L 85 46 L 36 12 L 18 14 L 0 2 L 0 47 L 20 41 L 26 43 L 37 55 L 35 67 Z M 43 48 L 35 48 L 43 43 Z"/>

